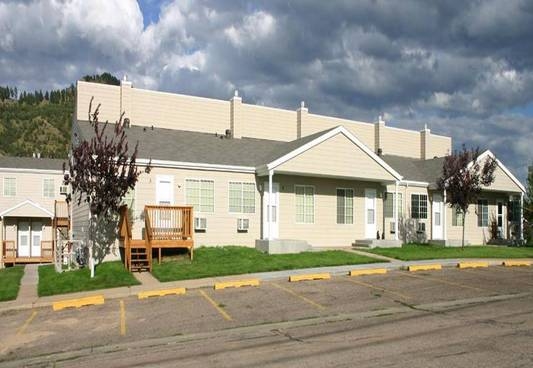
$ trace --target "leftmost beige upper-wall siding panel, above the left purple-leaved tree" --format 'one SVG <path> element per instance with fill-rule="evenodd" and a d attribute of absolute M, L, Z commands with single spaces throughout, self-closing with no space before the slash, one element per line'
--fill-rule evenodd
<path fill-rule="evenodd" d="M 89 103 L 94 97 L 92 109 L 100 104 L 100 121 L 115 122 L 120 117 L 120 87 L 101 83 L 78 81 L 76 114 L 78 120 L 87 120 Z"/>

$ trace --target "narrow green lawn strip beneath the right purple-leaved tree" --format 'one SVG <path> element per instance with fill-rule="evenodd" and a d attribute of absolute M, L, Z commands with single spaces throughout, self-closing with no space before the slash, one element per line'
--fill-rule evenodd
<path fill-rule="evenodd" d="M 530 247 L 466 246 L 462 249 L 461 247 L 404 244 L 401 248 L 374 248 L 366 251 L 402 261 L 439 258 L 533 258 L 533 248 Z"/>

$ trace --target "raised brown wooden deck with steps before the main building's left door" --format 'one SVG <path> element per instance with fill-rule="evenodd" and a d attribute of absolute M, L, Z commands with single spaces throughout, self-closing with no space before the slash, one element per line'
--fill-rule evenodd
<path fill-rule="evenodd" d="M 133 239 L 128 208 L 122 206 L 119 232 L 124 240 L 124 264 L 129 271 L 152 271 L 152 251 L 185 248 L 193 259 L 193 209 L 190 206 L 145 206 L 144 239 Z"/>

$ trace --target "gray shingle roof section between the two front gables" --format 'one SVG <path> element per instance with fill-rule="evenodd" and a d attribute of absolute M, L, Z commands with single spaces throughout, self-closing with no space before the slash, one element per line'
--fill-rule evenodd
<path fill-rule="evenodd" d="M 421 160 L 411 157 L 383 155 L 381 158 L 394 170 L 398 171 L 404 180 L 424 181 L 430 185 L 436 184 L 442 173 L 442 163 L 444 161 L 444 157 Z"/>

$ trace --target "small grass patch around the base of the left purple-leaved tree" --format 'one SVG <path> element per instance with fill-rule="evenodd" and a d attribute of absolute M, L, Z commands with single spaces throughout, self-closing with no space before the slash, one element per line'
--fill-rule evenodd
<path fill-rule="evenodd" d="M 139 282 L 122 262 L 102 263 L 96 267 L 93 279 L 88 268 L 57 273 L 54 265 L 47 265 L 39 267 L 37 291 L 39 296 L 48 296 L 131 285 L 139 285 Z"/>

